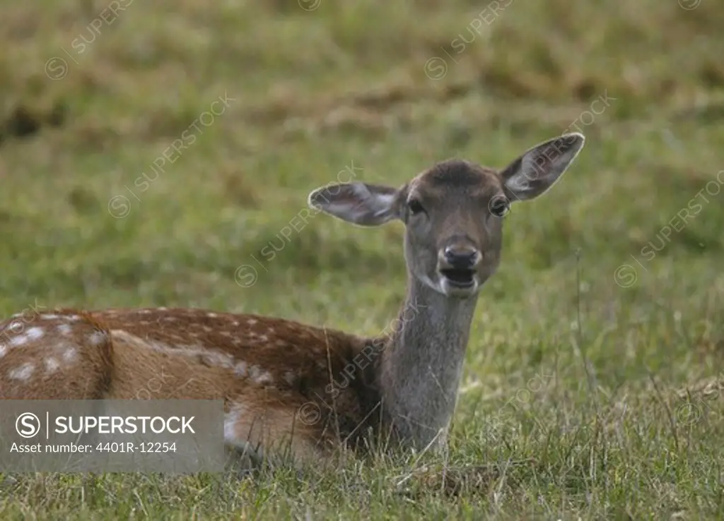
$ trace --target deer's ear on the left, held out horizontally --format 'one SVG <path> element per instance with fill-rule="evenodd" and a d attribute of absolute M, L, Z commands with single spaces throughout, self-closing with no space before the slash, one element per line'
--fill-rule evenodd
<path fill-rule="evenodd" d="M 366 183 L 323 186 L 309 194 L 309 206 L 361 226 L 399 218 L 397 189 Z"/>

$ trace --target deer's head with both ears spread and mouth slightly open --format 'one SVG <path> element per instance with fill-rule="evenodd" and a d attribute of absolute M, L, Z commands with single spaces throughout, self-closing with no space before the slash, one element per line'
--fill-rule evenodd
<path fill-rule="evenodd" d="M 565 134 L 524 152 L 501 171 L 467 160 L 437 163 L 399 188 L 353 182 L 324 186 L 309 204 L 355 225 L 405 223 L 408 272 L 445 296 L 476 296 L 500 262 L 502 218 L 560 178 L 584 146 Z"/>

